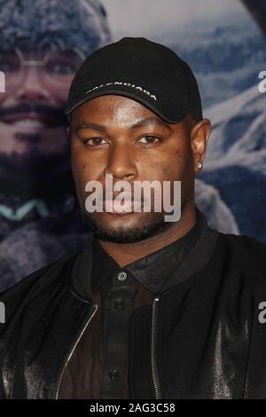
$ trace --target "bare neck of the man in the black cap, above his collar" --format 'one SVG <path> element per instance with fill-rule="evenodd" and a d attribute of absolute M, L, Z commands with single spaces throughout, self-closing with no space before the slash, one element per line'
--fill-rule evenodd
<path fill-rule="evenodd" d="M 196 210 L 195 206 L 192 205 L 192 207 L 186 207 L 183 210 L 178 222 L 171 224 L 165 231 L 151 238 L 135 243 L 116 243 L 107 240 L 99 240 L 99 243 L 107 254 L 123 267 L 181 239 L 184 234 L 192 229 L 195 223 Z"/>

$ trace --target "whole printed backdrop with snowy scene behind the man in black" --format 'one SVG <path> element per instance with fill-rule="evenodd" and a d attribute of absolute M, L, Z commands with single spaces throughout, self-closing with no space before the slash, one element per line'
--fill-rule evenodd
<path fill-rule="evenodd" d="M 0 0 L 0 290 L 90 243 L 63 110 L 82 59 L 127 35 L 166 44 L 198 79 L 208 224 L 266 241 L 264 22 L 264 0 Z"/>

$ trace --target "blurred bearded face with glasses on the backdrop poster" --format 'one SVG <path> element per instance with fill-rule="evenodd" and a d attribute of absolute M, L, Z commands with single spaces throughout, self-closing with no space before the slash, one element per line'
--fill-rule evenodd
<path fill-rule="evenodd" d="M 66 166 L 64 107 L 74 72 L 71 53 L 0 51 L 5 92 L 0 93 L 0 161 L 9 175 L 45 177 Z M 46 173 L 46 174 L 45 174 Z"/>

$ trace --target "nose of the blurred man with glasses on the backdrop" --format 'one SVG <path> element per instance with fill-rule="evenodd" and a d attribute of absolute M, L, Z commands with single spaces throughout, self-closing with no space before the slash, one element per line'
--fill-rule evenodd
<path fill-rule="evenodd" d="M 16 90 L 16 98 L 29 100 L 48 100 L 49 91 L 42 83 L 42 69 L 26 67 L 20 85 Z"/>

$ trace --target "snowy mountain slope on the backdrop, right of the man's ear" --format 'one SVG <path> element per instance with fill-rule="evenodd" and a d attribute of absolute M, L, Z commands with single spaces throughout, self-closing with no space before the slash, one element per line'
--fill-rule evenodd
<path fill-rule="evenodd" d="M 204 114 L 213 130 L 199 178 L 217 190 L 240 234 L 266 241 L 266 93 L 255 85 Z"/>

